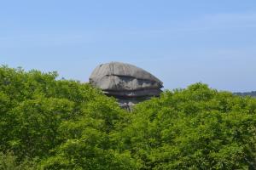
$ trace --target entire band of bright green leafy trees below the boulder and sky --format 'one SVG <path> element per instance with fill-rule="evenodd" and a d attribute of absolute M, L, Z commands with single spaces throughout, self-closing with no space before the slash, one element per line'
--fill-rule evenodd
<path fill-rule="evenodd" d="M 0 67 L 0 169 L 256 168 L 256 99 L 196 83 L 127 112 L 56 77 Z"/>

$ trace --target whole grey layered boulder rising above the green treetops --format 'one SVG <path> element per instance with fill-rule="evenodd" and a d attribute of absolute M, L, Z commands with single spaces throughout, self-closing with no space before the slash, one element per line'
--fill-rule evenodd
<path fill-rule="evenodd" d="M 133 105 L 157 97 L 163 82 L 135 65 L 111 62 L 98 65 L 90 76 L 90 84 L 113 96 L 119 105 L 131 110 Z"/>

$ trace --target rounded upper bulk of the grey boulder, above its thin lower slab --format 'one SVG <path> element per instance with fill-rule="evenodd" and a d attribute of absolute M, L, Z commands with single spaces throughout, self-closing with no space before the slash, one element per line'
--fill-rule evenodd
<path fill-rule="evenodd" d="M 90 76 L 90 83 L 102 90 L 114 91 L 163 88 L 163 82 L 148 71 L 119 62 L 98 65 Z"/>

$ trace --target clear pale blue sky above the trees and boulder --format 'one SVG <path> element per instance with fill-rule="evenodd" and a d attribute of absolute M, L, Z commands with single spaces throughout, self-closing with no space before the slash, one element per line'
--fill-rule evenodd
<path fill-rule="evenodd" d="M 0 0 L 0 64 L 87 82 L 109 61 L 169 89 L 256 90 L 256 1 Z"/>

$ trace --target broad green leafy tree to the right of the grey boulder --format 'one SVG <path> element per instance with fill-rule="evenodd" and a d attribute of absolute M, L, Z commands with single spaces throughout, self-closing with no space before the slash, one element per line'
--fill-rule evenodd
<path fill-rule="evenodd" d="M 137 105 L 119 144 L 143 169 L 254 169 L 255 109 L 197 83 Z"/>

